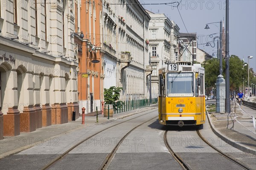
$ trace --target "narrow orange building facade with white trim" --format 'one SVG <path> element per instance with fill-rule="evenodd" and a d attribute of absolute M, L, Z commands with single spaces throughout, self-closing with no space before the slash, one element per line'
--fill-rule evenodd
<path fill-rule="evenodd" d="M 100 109 L 104 98 L 102 67 L 102 0 L 80 2 L 80 28 L 83 32 L 82 55 L 79 58 L 78 91 L 79 110 L 85 107 L 86 113 Z M 99 110 L 98 109 L 98 110 Z"/>

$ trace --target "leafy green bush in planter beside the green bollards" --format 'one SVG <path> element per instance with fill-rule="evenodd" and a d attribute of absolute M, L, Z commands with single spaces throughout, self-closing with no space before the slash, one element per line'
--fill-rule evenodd
<path fill-rule="evenodd" d="M 109 89 L 104 88 L 104 117 L 108 116 L 108 106 L 109 106 L 109 116 L 113 117 L 113 105 L 116 106 L 116 102 L 119 100 L 120 92 L 123 88 L 111 86 Z"/>

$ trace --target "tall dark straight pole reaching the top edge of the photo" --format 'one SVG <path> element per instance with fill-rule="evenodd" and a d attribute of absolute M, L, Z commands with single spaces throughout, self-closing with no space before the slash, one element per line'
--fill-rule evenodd
<path fill-rule="evenodd" d="M 230 113 L 230 72 L 229 72 L 229 0 L 226 0 L 226 98 L 225 98 L 225 113 Z"/>

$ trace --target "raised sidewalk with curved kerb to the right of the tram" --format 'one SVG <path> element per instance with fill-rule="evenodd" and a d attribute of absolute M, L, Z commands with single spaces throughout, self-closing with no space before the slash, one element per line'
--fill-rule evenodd
<path fill-rule="evenodd" d="M 256 131 L 252 118 L 252 116 L 256 117 L 256 111 L 239 104 L 235 107 L 235 102 L 232 101 L 230 105 L 231 110 L 233 109 L 230 114 L 207 114 L 213 132 L 233 147 L 256 155 Z M 237 121 L 234 121 L 235 112 Z"/>

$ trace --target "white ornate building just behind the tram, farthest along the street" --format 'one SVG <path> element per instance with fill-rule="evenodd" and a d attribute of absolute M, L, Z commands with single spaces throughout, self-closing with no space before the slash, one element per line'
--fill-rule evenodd
<path fill-rule="evenodd" d="M 158 69 L 166 63 L 175 61 L 179 27 L 165 14 L 147 12 L 151 17 L 149 22 L 149 51 L 152 66 L 151 92 L 152 98 L 156 98 L 158 96 Z"/>

